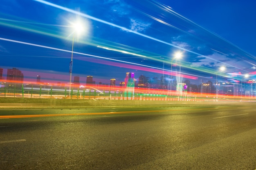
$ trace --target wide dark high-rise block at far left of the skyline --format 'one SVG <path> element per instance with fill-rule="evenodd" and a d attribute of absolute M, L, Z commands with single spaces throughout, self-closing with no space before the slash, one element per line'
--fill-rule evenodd
<path fill-rule="evenodd" d="M 20 70 L 16 68 L 7 69 L 6 81 L 7 81 L 8 88 L 16 88 L 16 89 L 21 88 L 23 83 L 23 78 L 24 78 L 24 75 Z"/>

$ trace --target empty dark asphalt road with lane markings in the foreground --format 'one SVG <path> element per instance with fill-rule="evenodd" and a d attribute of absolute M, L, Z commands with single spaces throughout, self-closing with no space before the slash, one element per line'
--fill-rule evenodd
<path fill-rule="evenodd" d="M 256 169 L 254 103 L 0 110 L 0 169 Z"/>

